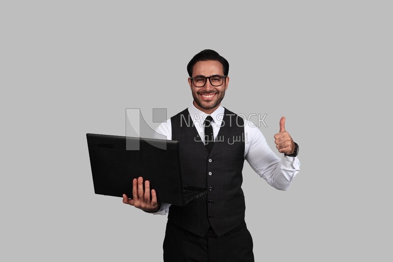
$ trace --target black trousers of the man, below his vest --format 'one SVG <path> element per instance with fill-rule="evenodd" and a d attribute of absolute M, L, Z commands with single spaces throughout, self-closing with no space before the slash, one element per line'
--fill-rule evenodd
<path fill-rule="evenodd" d="M 254 262 L 253 239 L 246 225 L 222 236 L 201 237 L 168 220 L 164 262 Z"/>

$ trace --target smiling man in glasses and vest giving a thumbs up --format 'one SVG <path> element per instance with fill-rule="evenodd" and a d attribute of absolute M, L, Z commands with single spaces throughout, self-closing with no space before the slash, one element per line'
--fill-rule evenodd
<path fill-rule="evenodd" d="M 123 195 L 123 203 L 146 212 L 168 213 L 166 262 L 254 261 L 253 240 L 244 221 L 244 159 L 270 185 L 286 190 L 299 172 L 298 146 L 285 131 L 285 117 L 275 135 L 276 147 L 283 153 L 280 159 L 257 127 L 221 107 L 229 64 L 217 52 L 201 51 L 187 70 L 193 103 L 156 131 L 180 142 L 184 184 L 209 191 L 185 206 L 157 203 L 154 189 L 150 195 L 149 181 L 144 181 L 143 190 L 139 177 L 133 181 L 133 199 Z"/>

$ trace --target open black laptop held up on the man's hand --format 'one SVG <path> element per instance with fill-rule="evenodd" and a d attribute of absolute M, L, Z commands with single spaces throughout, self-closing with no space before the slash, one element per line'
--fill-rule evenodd
<path fill-rule="evenodd" d="M 185 205 L 207 193 L 207 188 L 183 185 L 178 141 L 101 134 L 86 138 L 95 194 L 132 198 L 132 181 L 140 176 L 149 180 L 161 203 Z M 126 150 L 130 147 L 134 150 Z"/>

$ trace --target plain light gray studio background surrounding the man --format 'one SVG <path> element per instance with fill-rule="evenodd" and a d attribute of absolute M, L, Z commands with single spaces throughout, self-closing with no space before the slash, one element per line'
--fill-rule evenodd
<path fill-rule="evenodd" d="M 0 260 L 162 260 L 166 217 L 94 194 L 85 134 L 188 107 L 206 48 L 230 63 L 222 105 L 267 114 L 275 152 L 286 116 L 300 145 L 289 191 L 245 165 L 256 261 L 391 260 L 388 3 L 1 1 Z"/>

